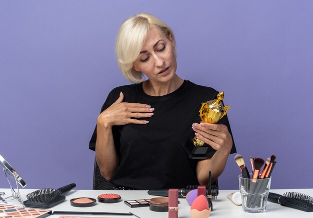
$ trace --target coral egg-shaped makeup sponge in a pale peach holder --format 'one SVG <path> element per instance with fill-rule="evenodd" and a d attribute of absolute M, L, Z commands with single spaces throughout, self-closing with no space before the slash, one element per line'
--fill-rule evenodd
<path fill-rule="evenodd" d="M 206 198 L 203 195 L 196 197 L 190 208 L 192 218 L 208 218 L 211 211 Z"/>

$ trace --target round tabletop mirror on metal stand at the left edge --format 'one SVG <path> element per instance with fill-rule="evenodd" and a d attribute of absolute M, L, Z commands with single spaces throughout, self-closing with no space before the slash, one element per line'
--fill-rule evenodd
<path fill-rule="evenodd" d="M 3 173 L 5 175 L 5 178 L 7 180 L 7 183 L 10 187 L 11 193 L 12 195 L 9 197 L 6 197 L 4 199 L 1 199 L 0 202 L 6 202 L 6 199 L 9 198 L 13 198 L 16 199 L 19 203 L 23 204 L 23 200 L 21 199 L 20 193 L 19 193 L 19 189 L 18 189 L 18 185 L 21 186 L 22 188 L 24 188 L 26 186 L 26 183 L 24 182 L 24 180 L 19 176 L 19 174 L 11 167 L 11 165 L 9 165 L 9 163 L 7 163 L 7 161 L 4 160 L 4 158 L 0 155 L 0 166 L 3 169 Z M 13 189 L 8 176 L 10 178 L 12 178 L 15 182 L 16 185 L 16 191 Z"/>

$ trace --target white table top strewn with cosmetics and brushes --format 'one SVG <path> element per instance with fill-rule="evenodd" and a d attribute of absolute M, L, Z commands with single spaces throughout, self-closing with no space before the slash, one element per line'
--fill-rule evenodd
<path fill-rule="evenodd" d="M 20 193 L 23 201 L 26 200 L 25 195 L 35 191 L 29 189 L 20 189 Z M 237 190 L 219 190 L 219 194 L 217 200 L 212 201 L 213 203 L 213 211 L 211 212 L 211 218 L 277 218 L 280 216 L 281 218 L 312 218 L 313 213 L 303 212 L 299 210 L 295 210 L 292 208 L 283 207 L 279 204 L 267 203 L 266 212 L 260 214 L 249 214 L 242 211 L 241 206 L 234 205 L 230 200 L 227 199 L 226 195 L 236 192 Z M 5 192 L 6 195 L 2 196 L 5 198 L 11 195 L 9 189 L 0 189 L 0 192 Z M 270 192 L 283 194 L 286 192 L 299 192 L 309 196 L 313 196 L 313 189 L 294 189 L 294 190 L 270 190 Z M 95 206 L 89 208 L 76 208 L 70 206 L 70 199 L 79 198 L 79 197 L 88 197 L 97 199 L 98 195 L 114 193 L 121 196 L 122 201 L 114 204 L 103 204 L 96 203 Z M 130 208 L 124 204 L 123 201 L 129 200 L 140 200 L 140 199 L 150 199 L 155 196 L 150 196 L 147 194 L 147 191 L 111 191 L 111 190 L 72 190 L 66 195 L 66 200 L 56 205 L 49 210 L 52 211 L 83 211 L 83 212 L 114 212 L 114 213 L 132 213 L 139 218 L 168 218 L 167 212 L 152 212 L 148 207 L 143 208 Z M 1 203 L 3 204 L 3 203 Z M 7 204 L 21 206 L 16 200 L 8 200 Z M 179 218 L 191 218 L 190 216 L 190 206 L 187 204 L 184 198 L 179 198 L 178 205 L 178 217 Z M 60 215 L 53 215 L 49 218 L 58 218 Z M 74 216 L 72 216 L 74 217 Z M 76 216 L 78 217 L 78 215 Z M 92 216 L 83 216 L 79 215 L 79 217 L 92 217 Z M 94 216 L 101 218 L 135 218 L 134 216 Z"/>

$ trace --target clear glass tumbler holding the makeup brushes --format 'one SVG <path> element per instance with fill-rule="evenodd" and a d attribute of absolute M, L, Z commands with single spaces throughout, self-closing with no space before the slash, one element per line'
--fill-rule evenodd
<path fill-rule="evenodd" d="M 253 180 L 239 175 L 238 178 L 242 210 L 248 213 L 265 212 L 270 188 L 270 177 Z M 250 178 L 252 178 L 252 175 L 250 175 Z"/>

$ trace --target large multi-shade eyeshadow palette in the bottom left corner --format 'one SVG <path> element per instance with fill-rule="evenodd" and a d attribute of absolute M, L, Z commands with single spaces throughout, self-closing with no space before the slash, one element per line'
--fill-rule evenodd
<path fill-rule="evenodd" d="M 0 205 L 0 218 L 45 218 L 50 215 L 50 210 Z"/>

